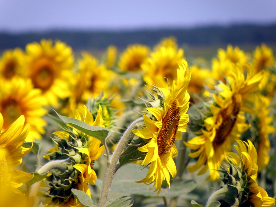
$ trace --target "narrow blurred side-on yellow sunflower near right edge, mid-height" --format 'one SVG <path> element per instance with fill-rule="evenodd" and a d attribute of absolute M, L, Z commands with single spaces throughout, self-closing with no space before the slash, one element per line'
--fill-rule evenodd
<path fill-rule="evenodd" d="M 268 134 L 271 134 L 275 131 L 275 128 L 271 126 L 271 122 L 273 121 L 273 117 L 269 116 L 270 113 L 270 101 L 267 97 L 258 96 L 256 99 L 256 110 L 257 114 L 257 122 L 258 122 L 258 169 L 261 171 L 269 162 L 269 150 L 270 150 L 270 141 Z"/>

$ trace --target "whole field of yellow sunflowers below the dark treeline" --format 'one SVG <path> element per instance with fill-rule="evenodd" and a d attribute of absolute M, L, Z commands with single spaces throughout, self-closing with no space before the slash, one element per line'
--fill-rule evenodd
<path fill-rule="evenodd" d="M 3 51 L 0 80 L 0 206 L 275 206 L 268 45 L 205 60 L 174 37 L 100 55 L 42 39 Z"/>

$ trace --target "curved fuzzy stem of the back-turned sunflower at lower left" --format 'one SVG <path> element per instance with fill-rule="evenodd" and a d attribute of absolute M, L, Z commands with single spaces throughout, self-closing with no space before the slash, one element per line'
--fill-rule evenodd
<path fill-rule="evenodd" d="M 50 170 L 55 168 L 65 171 L 67 169 L 67 166 L 63 163 L 66 162 L 67 160 L 69 160 L 69 158 L 65 160 L 53 160 L 53 161 L 47 162 L 39 170 L 37 170 L 37 173 L 41 174 L 41 173 L 49 172 Z M 37 196 L 37 191 L 39 190 L 40 183 L 41 181 L 38 181 L 32 184 L 32 187 L 30 190 L 30 199 L 34 201 L 34 206 L 36 205 L 35 198 Z"/>

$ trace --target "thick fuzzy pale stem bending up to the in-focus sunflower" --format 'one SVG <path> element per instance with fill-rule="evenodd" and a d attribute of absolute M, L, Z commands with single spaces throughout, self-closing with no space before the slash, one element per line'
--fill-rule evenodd
<path fill-rule="evenodd" d="M 122 137 L 120 138 L 120 141 L 118 142 L 117 147 L 114 150 L 113 155 L 110 158 L 110 162 L 107 165 L 106 173 L 101 189 L 101 196 L 99 198 L 99 204 L 98 207 L 104 206 L 106 203 L 108 193 L 110 191 L 111 183 L 115 174 L 116 164 L 120 158 L 120 155 L 122 154 L 123 150 L 127 147 L 128 142 L 132 139 L 132 130 L 136 129 L 139 124 L 143 122 L 143 117 L 136 119 L 133 121 L 129 127 L 126 129 Z"/>

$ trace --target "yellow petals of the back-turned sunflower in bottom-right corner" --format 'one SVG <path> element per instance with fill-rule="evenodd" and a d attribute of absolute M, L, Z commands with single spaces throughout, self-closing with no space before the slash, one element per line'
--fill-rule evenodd
<path fill-rule="evenodd" d="M 239 206 L 273 206 L 275 199 L 268 196 L 267 192 L 258 186 L 256 178 L 258 175 L 257 152 L 250 140 L 247 142 L 236 140 L 238 145 L 234 145 L 237 154 L 233 152 L 226 153 L 226 159 L 229 163 L 228 173 L 235 177 L 241 187 L 237 195 Z M 236 169 L 236 170 L 233 170 Z M 226 171 L 226 170 L 225 170 Z M 227 182 L 227 179 L 223 179 Z"/>

